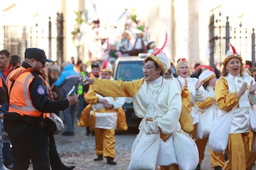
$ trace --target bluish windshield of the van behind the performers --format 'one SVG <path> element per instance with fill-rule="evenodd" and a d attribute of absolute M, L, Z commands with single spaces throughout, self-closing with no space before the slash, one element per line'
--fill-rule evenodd
<path fill-rule="evenodd" d="M 123 81 L 142 79 L 144 77 L 142 65 L 143 61 L 120 61 L 114 79 L 122 79 Z"/>

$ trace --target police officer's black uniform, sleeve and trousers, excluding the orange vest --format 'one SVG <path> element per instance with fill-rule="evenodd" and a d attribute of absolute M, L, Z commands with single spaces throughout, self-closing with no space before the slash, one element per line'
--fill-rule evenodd
<path fill-rule="evenodd" d="M 23 62 L 22 67 L 28 68 L 31 66 Z M 68 99 L 51 101 L 48 96 L 48 88 L 43 79 L 38 76 L 37 72 L 32 72 L 32 74 L 34 79 L 29 85 L 29 92 L 36 110 L 41 111 L 41 113 L 55 113 L 68 108 Z M 10 92 L 10 98 L 13 92 Z M 7 132 L 9 132 L 11 144 L 13 145 L 14 170 L 28 169 L 30 159 L 33 163 L 33 169 L 50 170 L 49 139 L 46 127 L 43 125 L 42 116 L 7 114 L 13 114 L 14 116 L 14 118 L 11 118 L 11 122 L 6 122 Z"/>

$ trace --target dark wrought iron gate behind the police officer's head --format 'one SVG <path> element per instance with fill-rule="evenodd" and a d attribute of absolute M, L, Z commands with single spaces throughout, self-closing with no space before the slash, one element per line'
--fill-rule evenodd
<path fill-rule="evenodd" d="M 4 49 L 9 50 L 11 55 L 19 55 L 22 58 L 26 47 L 39 47 L 48 52 L 46 55 L 50 59 L 52 58 L 52 52 L 55 52 L 57 62 L 61 64 L 64 60 L 63 22 L 63 13 L 57 13 L 55 27 L 53 28 L 54 35 L 52 35 L 50 17 L 48 23 L 36 23 L 31 27 L 4 26 Z M 48 25 L 48 27 L 42 28 L 42 25 Z"/>

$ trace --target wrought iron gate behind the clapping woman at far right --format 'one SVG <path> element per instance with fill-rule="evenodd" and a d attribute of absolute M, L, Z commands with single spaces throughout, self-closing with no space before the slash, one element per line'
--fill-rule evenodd
<path fill-rule="evenodd" d="M 214 13 L 210 16 L 209 22 L 209 47 L 210 65 L 221 64 L 225 53 L 230 49 L 229 43 L 235 46 L 236 50 L 245 60 L 255 64 L 255 28 L 246 28 L 242 21 L 238 26 L 230 26 L 229 17 L 222 21 L 221 13 L 218 18 Z"/>

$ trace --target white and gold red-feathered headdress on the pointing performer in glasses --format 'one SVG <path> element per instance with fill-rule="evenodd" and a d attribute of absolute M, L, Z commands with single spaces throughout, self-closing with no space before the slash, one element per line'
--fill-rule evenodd
<path fill-rule="evenodd" d="M 163 52 L 164 47 L 167 44 L 167 41 L 168 41 L 168 34 L 166 32 L 164 45 L 161 48 L 154 48 L 154 52 L 150 56 L 157 64 L 159 64 L 159 67 L 162 69 L 163 73 L 166 73 L 171 67 L 169 58 Z"/>

